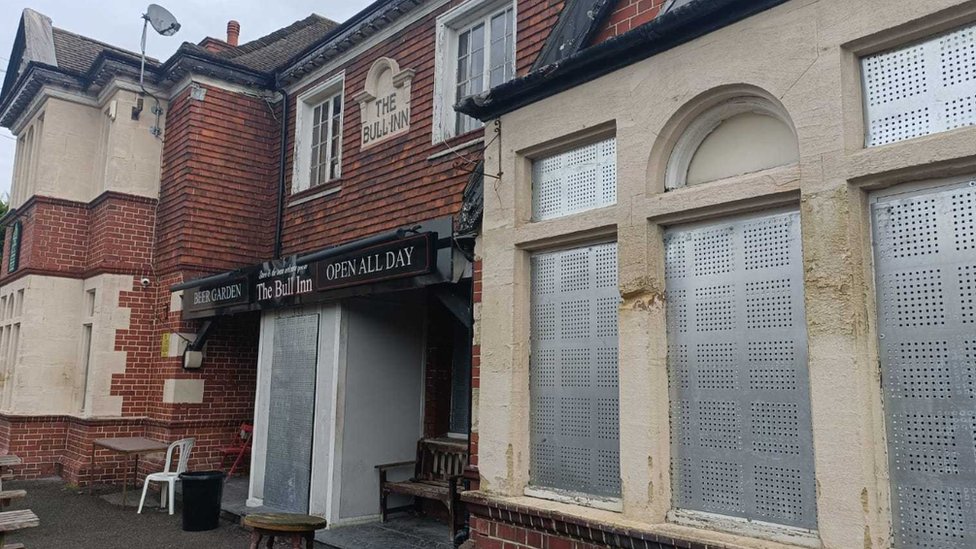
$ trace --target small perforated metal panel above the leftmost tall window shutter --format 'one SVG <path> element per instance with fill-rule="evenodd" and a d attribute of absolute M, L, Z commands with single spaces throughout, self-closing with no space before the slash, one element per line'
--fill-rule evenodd
<path fill-rule="evenodd" d="M 617 203 L 617 139 L 532 163 L 532 218 L 555 219 Z"/>

